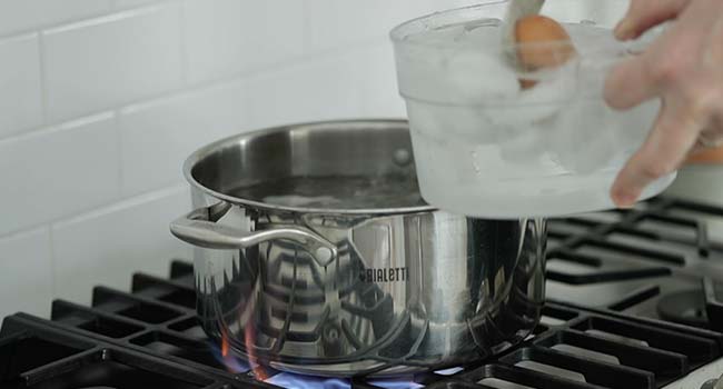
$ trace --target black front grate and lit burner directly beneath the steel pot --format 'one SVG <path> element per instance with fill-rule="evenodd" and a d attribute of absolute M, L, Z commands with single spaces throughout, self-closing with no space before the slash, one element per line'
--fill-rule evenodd
<path fill-rule="evenodd" d="M 92 308 L 55 301 L 53 321 L 22 313 L 7 318 L 0 356 L 10 357 L 0 357 L 0 382 L 12 382 L 11 389 L 126 389 L 138 388 L 139 379 L 170 389 L 216 388 L 215 382 L 231 385 L 228 388 L 434 389 L 473 388 L 476 382 L 596 388 L 610 387 L 614 378 L 626 382 L 626 388 L 647 389 L 717 358 L 723 345 L 723 335 L 717 332 L 548 303 L 535 336 L 496 360 L 375 381 L 309 378 L 267 369 L 261 383 L 244 361 L 237 360 L 237 368 L 230 369 L 219 358 L 219 348 L 198 329 L 194 310 L 179 305 L 182 299 L 164 302 L 192 285 L 186 283 L 192 281 L 190 265 L 175 262 L 171 273 L 176 276 L 171 280 L 137 275 L 132 295 L 96 288 Z M 176 313 L 164 313 L 167 319 L 159 322 L 157 312 L 135 308 L 153 303 Z"/>

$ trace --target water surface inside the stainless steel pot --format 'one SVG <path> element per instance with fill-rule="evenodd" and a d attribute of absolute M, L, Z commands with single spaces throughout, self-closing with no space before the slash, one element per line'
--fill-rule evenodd
<path fill-rule="evenodd" d="M 424 207 L 414 177 L 294 177 L 241 187 L 229 194 L 275 206 L 326 209 Z"/>

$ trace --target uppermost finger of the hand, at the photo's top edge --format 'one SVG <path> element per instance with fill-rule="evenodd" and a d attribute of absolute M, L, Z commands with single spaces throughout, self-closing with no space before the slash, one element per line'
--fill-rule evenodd
<path fill-rule="evenodd" d="M 674 19 L 692 0 L 631 0 L 627 14 L 615 28 L 620 40 L 635 39 L 648 29 Z"/>

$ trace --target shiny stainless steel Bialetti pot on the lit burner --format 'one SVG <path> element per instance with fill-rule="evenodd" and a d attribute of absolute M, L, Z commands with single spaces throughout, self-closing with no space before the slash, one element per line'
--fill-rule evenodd
<path fill-rule="evenodd" d="M 413 158 L 397 120 L 278 127 L 195 152 L 196 209 L 171 231 L 197 247 L 205 331 L 225 352 L 320 376 L 455 366 L 527 337 L 545 222 L 433 209 Z"/>

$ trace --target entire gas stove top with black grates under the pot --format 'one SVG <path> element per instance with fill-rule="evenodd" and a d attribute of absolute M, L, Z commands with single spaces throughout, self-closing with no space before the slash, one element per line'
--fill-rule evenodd
<path fill-rule="evenodd" d="M 395 379 L 232 358 L 198 326 L 192 266 L 177 260 L 168 278 L 135 275 L 130 292 L 95 288 L 91 307 L 6 318 L 0 388 L 701 388 L 723 372 L 721 227 L 723 208 L 672 198 L 552 220 L 535 333 L 495 359 Z"/>

